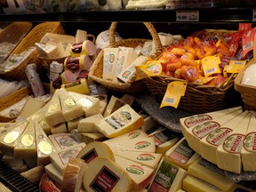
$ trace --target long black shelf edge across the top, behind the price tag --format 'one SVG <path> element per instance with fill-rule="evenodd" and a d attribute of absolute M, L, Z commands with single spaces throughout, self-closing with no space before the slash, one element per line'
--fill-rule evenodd
<path fill-rule="evenodd" d="M 177 22 L 177 11 L 198 11 L 200 22 L 252 22 L 256 7 L 212 7 L 191 9 L 118 10 L 93 12 L 56 12 L 34 14 L 1 14 L 0 21 L 62 21 L 62 22 Z M 186 21 L 184 21 L 186 23 Z"/>

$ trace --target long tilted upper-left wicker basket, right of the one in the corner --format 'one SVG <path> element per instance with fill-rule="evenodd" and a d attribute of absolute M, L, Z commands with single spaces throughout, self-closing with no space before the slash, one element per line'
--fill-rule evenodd
<path fill-rule="evenodd" d="M 35 43 L 39 42 L 46 33 L 64 34 L 65 31 L 60 22 L 40 23 L 23 38 L 20 44 L 13 50 L 12 54 L 19 54 L 20 52 L 28 50 L 29 47 L 35 46 Z M 0 76 L 15 80 L 25 79 L 27 77 L 25 68 L 29 63 L 38 63 L 37 51 L 29 55 L 28 58 L 23 60 L 16 68 L 12 68 L 10 71 L 0 73 Z"/>

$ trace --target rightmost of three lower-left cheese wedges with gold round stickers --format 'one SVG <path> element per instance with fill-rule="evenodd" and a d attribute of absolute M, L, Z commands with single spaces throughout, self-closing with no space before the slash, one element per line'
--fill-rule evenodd
<path fill-rule="evenodd" d="M 35 122 L 37 165 L 50 164 L 50 155 L 56 150 L 52 141 L 49 140 L 41 126 Z"/>

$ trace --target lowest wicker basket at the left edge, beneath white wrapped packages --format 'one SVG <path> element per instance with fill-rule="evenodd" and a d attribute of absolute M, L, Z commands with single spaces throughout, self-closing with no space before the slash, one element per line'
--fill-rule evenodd
<path fill-rule="evenodd" d="M 0 111 L 4 110 L 5 108 L 9 108 L 10 106 L 19 102 L 31 93 L 32 91 L 29 87 L 24 87 L 17 92 L 13 92 L 12 94 L 0 99 Z M 13 119 L 15 119 L 15 117 L 12 118 L 8 116 L 0 116 L 0 122 L 10 122 Z"/>

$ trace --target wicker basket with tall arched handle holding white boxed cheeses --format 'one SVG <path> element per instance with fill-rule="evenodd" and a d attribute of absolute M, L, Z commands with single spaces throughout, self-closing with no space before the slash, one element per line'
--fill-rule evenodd
<path fill-rule="evenodd" d="M 118 42 L 115 40 L 115 30 L 116 30 L 116 22 L 112 22 L 109 28 L 109 47 L 132 47 L 135 48 L 137 45 L 143 45 L 148 39 L 140 39 L 140 38 L 128 38 L 123 39 Z M 156 44 L 156 51 L 160 50 L 162 47 L 161 41 L 159 36 L 157 35 L 156 28 L 151 23 L 144 22 L 144 25 L 148 28 L 150 35 L 152 36 L 155 44 Z M 94 82 L 102 84 L 106 88 L 116 91 L 116 92 L 127 92 L 127 93 L 137 93 L 137 92 L 144 92 L 147 90 L 146 84 L 144 84 L 143 80 L 134 81 L 132 78 L 131 81 L 126 83 L 118 83 L 109 80 L 102 79 L 103 73 L 103 55 L 104 51 L 102 50 L 97 58 L 93 61 L 92 68 L 89 72 L 89 77 L 92 78 Z M 135 77 L 135 76 L 134 76 Z"/>

